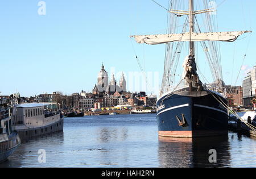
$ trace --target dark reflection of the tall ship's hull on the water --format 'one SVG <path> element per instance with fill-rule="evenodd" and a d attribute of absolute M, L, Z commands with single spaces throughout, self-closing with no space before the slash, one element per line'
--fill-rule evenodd
<path fill-rule="evenodd" d="M 210 149 L 217 152 L 216 163 L 210 163 Z M 230 166 L 229 138 L 164 138 L 159 136 L 160 167 L 226 167 Z"/>

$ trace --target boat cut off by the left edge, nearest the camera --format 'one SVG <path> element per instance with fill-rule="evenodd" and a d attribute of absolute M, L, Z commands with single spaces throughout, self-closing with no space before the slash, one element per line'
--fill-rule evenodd
<path fill-rule="evenodd" d="M 5 101 L 6 99 L 0 99 L 0 163 L 7 160 L 20 145 L 18 132 L 13 131 L 9 107 L 5 105 Z"/>

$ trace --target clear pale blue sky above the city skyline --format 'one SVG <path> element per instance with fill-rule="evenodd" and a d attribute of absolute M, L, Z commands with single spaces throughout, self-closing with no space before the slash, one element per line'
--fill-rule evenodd
<path fill-rule="evenodd" d="M 0 2 L 2 95 L 16 91 L 22 96 L 91 91 L 102 62 L 109 73 L 113 67 L 115 72 L 140 72 L 129 36 L 162 33 L 166 29 L 166 11 L 150 0 L 46 0 L 46 15 L 38 14 L 38 2 Z M 168 1 L 157 2 L 168 7 Z M 226 0 L 218 7 L 220 31 L 253 31 L 237 85 L 241 85 L 245 70 L 256 61 L 255 7 L 254 0 Z M 249 38 L 238 40 L 235 45 L 221 43 L 226 84 L 232 81 L 234 49 L 233 81 L 248 41 Z M 135 44 L 134 48 L 145 59 L 144 69 L 159 72 L 161 80 L 165 46 Z"/>

